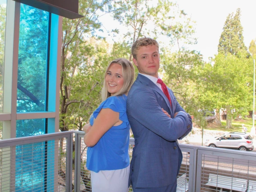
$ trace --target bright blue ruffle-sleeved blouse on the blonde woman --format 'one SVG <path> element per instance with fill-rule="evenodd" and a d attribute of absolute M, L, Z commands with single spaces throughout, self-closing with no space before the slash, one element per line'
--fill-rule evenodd
<path fill-rule="evenodd" d="M 110 96 L 93 112 L 90 118 L 91 125 L 101 109 L 105 108 L 119 112 L 119 119 L 123 123 L 110 128 L 95 146 L 88 147 L 86 162 L 88 170 L 98 173 L 100 170 L 123 169 L 129 165 L 130 123 L 126 114 L 126 101 L 126 95 Z"/>

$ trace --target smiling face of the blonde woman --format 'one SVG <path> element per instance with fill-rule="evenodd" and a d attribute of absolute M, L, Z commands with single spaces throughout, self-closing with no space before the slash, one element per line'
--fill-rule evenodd
<path fill-rule="evenodd" d="M 120 64 L 113 63 L 107 71 L 105 82 L 111 96 L 123 87 L 123 72 Z"/>

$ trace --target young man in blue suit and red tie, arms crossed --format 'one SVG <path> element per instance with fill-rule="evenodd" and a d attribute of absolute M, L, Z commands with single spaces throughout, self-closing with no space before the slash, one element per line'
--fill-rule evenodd
<path fill-rule="evenodd" d="M 177 139 L 191 131 L 192 119 L 173 92 L 158 80 L 157 41 L 138 39 L 133 43 L 132 54 L 139 74 L 127 100 L 135 138 L 129 184 L 133 192 L 176 192 L 182 162 Z"/>

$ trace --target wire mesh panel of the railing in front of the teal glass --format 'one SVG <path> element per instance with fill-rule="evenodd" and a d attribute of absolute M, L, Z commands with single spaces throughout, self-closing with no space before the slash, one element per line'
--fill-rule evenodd
<path fill-rule="evenodd" d="M 56 139 L 1 147 L 0 191 L 65 192 L 65 141 Z"/>

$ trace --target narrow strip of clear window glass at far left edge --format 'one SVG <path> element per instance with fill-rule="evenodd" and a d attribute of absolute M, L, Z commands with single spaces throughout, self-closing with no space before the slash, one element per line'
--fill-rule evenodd
<path fill-rule="evenodd" d="M 6 5 L 6 0 L 0 0 L 0 113 L 3 113 Z"/>

